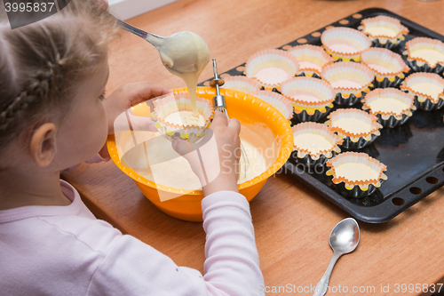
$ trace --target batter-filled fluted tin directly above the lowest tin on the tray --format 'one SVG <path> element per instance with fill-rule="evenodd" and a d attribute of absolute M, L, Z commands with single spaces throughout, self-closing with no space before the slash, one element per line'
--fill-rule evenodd
<path fill-rule="evenodd" d="M 368 146 L 381 134 L 383 126 L 377 123 L 377 116 L 356 108 L 337 109 L 329 114 L 329 125 L 332 132 L 343 139 L 341 147 L 361 149 Z"/>

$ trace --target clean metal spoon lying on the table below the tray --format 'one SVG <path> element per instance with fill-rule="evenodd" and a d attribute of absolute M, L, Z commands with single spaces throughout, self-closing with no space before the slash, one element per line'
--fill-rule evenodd
<path fill-rule="evenodd" d="M 331 230 L 329 243 L 333 249 L 333 257 L 330 260 L 329 267 L 322 276 L 321 281 L 316 284 L 313 296 L 322 296 L 327 292 L 331 271 L 336 261 L 342 255 L 353 252 L 360 242 L 360 227 L 353 218 L 347 218 L 337 223 L 337 226 Z"/>

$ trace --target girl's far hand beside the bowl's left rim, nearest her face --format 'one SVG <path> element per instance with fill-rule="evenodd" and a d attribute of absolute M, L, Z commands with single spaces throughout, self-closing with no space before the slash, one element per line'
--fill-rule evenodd
<path fill-rule="evenodd" d="M 114 122 L 117 116 L 121 115 L 125 110 L 131 106 L 137 105 L 145 100 L 153 99 L 171 91 L 161 84 L 154 83 L 137 83 L 137 84 L 123 84 L 121 87 L 111 93 L 105 100 L 103 105 L 107 113 L 108 120 L 108 134 L 114 133 Z M 138 131 L 152 131 L 154 121 L 149 117 L 131 116 L 131 124 L 134 130 Z M 144 127 L 146 127 L 144 129 Z"/>

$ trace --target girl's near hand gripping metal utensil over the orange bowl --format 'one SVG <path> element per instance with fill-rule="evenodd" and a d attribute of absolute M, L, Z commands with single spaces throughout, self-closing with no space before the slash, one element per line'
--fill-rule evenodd
<path fill-rule="evenodd" d="M 176 139 L 172 148 L 191 164 L 202 183 L 203 195 L 230 190 L 238 192 L 238 162 L 241 155 L 241 124 L 215 112 L 210 130 L 199 143 Z"/>

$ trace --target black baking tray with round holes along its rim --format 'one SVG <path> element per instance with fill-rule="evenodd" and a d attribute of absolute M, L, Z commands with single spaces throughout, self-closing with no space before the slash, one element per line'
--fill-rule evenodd
<path fill-rule="evenodd" d="M 381 8 L 369 8 L 297 38 L 289 44 L 282 45 L 279 49 L 285 50 L 289 46 L 299 44 L 321 45 L 320 33 L 326 28 L 330 26 L 358 28 L 361 20 L 377 15 L 387 15 L 400 20 L 409 29 L 406 42 L 416 36 L 444 41 L 444 36 L 398 14 Z M 392 51 L 402 55 L 405 51 L 405 43 Z M 245 64 L 232 68 L 220 76 L 243 75 L 242 66 Z M 207 85 L 209 81 L 210 79 L 200 85 Z M 361 106 L 355 105 L 353 108 L 361 108 Z M 320 170 L 314 172 L 314 170 L 298 166 L 294 162 L 296 159 L 294 153 L 281 170 L 295 176 L 297 180 L 313 188 L 321 196 L 349 212 L 354 218 L 369 223 L 382 223 L 407 210 L 408 207 L 444 184 L 443 116 L 444 108 L 436 111 L 416 110 L 406 124 L 393 129 L 382 129 L 381 136 L 369 147 L 356 150 L 368 153 L 369 156 L 387 165 L 385 174 L 388 180 L 368 197 L 357 199 L 341 196 L 330 178 L 325 175 L 325 169 L 321 170 L 323 172 Z M 292 119 L 292 123 L 297 124 L 295 119 Z"/>

